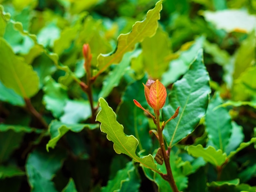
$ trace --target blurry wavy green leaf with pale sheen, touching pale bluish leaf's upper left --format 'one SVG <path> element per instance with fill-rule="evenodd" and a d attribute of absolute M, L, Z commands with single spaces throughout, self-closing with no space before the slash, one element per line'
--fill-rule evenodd
<path fill-rule="evenodd" d="M 67 87 L 56 83 L 54 79 L 48 76 L 45 78 L 43 91 L 45 92 L 43 102 L 46 109 L 51 111 L 55 118 L 60 117 L 68 100 Z"/>

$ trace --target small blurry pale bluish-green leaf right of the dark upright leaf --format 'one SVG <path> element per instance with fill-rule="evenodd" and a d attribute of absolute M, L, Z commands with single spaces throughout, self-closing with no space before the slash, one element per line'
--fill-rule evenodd
<path fill-rule="evenodd" d="M 243 134 L 243 127 L 236 124 L 235 121 L 231 122 L 232 130 L 231 136 L 229 138 L 229 143 L 226 145 L 225 152 L 227 155 L 230 154 L 231 151 L 235 151 L 237 147 L 243 142 L 244 134 Z"/>

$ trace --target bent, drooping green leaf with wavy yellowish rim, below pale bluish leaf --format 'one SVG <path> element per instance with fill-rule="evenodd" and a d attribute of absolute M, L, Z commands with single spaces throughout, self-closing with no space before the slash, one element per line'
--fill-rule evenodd
<path fill-rule="evenodd" d="M 46 145 L 46 150 L 49 151 L 49 147 L 55 147 L 58 140 L 65 135 L 69 130 L 72 132 L 81 132 L 84 128 L 88 129 L 96 129 L 98 128 L 98 124 L 66 124 L 60 121 L 52 121 L 49 125 L 49 133 L 51 139 L 48 141 Z"/>

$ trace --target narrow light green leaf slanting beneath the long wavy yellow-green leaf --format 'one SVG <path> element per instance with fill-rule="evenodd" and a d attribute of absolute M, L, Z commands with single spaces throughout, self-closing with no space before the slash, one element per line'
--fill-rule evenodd
<path fill-rule="evenodd" d="M 119 65 L 115 66 L 115 69 L 108 74 L 107 79 L 103 81 L 103 86 L 101 92 L 99 93 L 99 98 L 106 98 L 112 89 L 119 84 L 121 78 L 124 76 L 127 70 L 127 67 L 130 65 L 130 57 L 132 54 L 133 53 L 131 52 L 124 54 L 124 57 Z"/>

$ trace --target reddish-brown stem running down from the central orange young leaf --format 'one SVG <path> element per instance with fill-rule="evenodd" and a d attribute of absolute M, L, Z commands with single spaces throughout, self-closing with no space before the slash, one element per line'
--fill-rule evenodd
<path fill-rule="evenodd" d="M 173 190 L 173 192 L 179 192 L 177 185 L 174 181 L 173 178 L 173 173 L 171 170 L 171 165 L 170 165 L 170 151 L 171 148 L 168 148 L 168 155 L 166 154 L 166 149 L 164 146 L 164 138 L 163 138 L 163 132 L 162 132 L 162 128 L 160 127 L 160 116 L 159 116 L 159 111 L 156 113 L 156 121 L 157 121 L 157 133 L 158 133 L 158 137 L 159 137 L 159 144 L 162 150 L 162 155 L 164 158 L 164 164 L 166 167 L 166 171 L 167 171 L 167 175 L 165 177 L 162 177 L 163 179 L 165 179 L 166 181 L 168 181 L 168 183 L 171 185 L 171 188 Z"/>

